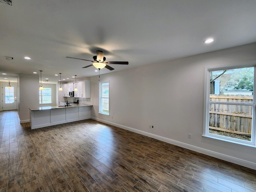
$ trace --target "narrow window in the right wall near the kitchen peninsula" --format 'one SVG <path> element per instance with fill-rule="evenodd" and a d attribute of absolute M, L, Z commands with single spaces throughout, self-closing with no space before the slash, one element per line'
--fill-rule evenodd
<path fill-rule="evenodd" d="M 109 115 L 109 82 L 100 83 L 100 106 L 99 112 Z"/>

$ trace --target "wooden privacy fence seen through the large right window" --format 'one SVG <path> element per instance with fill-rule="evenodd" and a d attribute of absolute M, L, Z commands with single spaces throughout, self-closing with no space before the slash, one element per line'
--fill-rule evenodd
<path fill-rule="evenodd" d="M 210 95 L 210 101 L 219 102 L 252 102 L 252 98 L 249 95 Z M 210 104 L 209 128 L 250 136 L 252 133 L 252 106 Z"/>

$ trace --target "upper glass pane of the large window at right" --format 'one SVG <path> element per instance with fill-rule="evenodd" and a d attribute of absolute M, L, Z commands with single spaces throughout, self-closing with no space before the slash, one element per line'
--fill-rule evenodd
<path fill-rule="evenodd" d="M 210 72 L 210 101 L 253 102 L 254 67 Z"/>

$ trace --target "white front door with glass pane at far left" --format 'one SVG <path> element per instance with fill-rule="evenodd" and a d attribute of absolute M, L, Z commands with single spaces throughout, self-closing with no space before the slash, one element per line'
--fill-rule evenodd
<path fill-rule="evenodd" d="M 8 85 L 2 85 L 2 106 L 4 110 L 17 110 L 17 88 L 16 85 L 11 85 L 11 88 L 7 88 Z"/>

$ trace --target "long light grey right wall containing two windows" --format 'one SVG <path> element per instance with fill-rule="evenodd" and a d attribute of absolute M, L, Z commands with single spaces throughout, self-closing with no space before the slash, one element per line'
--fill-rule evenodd
<path fill-rule="evenodd" d="M 110 81 L 110 116 L 98 114 L 98 76 L 91 78 L 91 116 L 140 134 L 256 169 L 256 149 L 202 137 L 204 68 L 256 60 L 256 43 L 100 76 Z M 154 129 L 149 128 L 154 125 Z M 192 139 L 188 138 L 192 134 Z"/>

